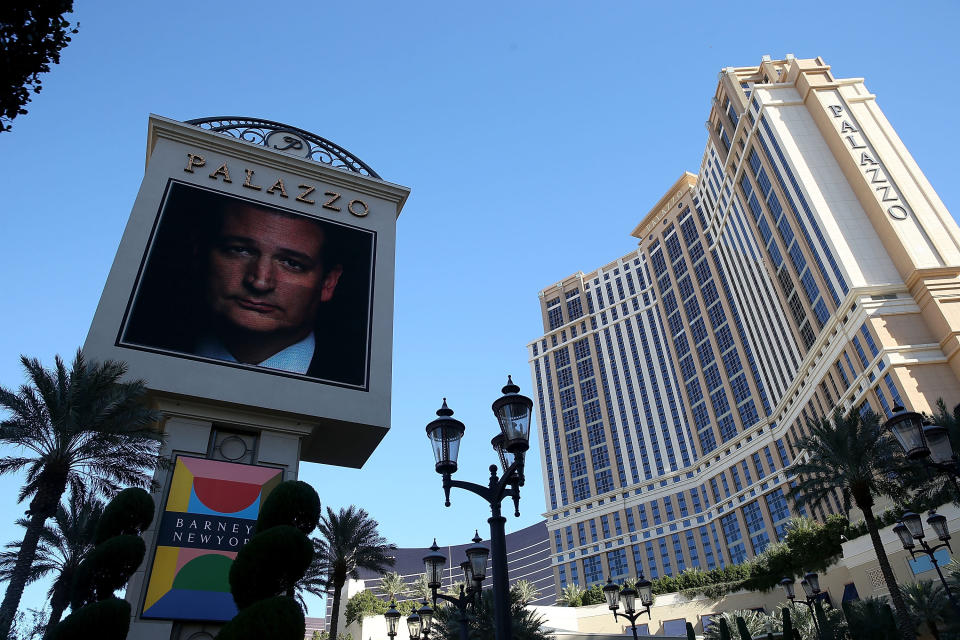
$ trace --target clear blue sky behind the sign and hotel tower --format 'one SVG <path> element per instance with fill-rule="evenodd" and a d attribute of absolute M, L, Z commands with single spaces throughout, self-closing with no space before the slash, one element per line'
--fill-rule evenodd
<path fill-rule="evenodd" d="M 324 505 L 367 509 L 400 546 L 483 534 L 479 498 L 454 492 L 443 507 L 424 425 L 446 396 L 467 425 L 458 477 L 483 481 L 490 403 L 508 373 L 530 391 L 537 292 L 630 251 L 642 216 L 697 171 L 721 68 L 793 53 L 864 77 L 960 211 L 958 5 L 674 6 L 78 2 L 80 33 L 0 134 L 0 384 L 20 384 L 21 353 L 52 363 L 83 342 L 143 175 L 149 113 L 289 123 L 412 189 L 398 221 L 393 428 L 362 470 L 305 464 L 301 477 Z M 536 446 L 527 477 L 508 531 L 544 511 Z M 0 542 L 21 535 L 19 484 L 0 478 Z"/>

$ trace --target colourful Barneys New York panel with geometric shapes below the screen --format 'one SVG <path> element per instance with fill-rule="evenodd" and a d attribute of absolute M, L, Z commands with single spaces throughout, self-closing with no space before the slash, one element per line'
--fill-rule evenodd
<path fill-rule="evenodd" d="M 280 469 L 177 458 L 141 617 L 223 622 L 237 615 L 230 565 L 282 479 Z"/>

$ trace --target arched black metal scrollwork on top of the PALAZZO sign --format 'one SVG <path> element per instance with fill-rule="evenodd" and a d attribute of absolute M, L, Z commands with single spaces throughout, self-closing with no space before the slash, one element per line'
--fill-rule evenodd
<path fill-rule="evenodd" d="M 380 177 L 367 163 L 343 147 L 309 131 L 280 122 L 260 118 L 220 116 L 187 120 L 187 124 L 214 133 L 222 133 L 245 142 L 260 144 L 297 157 L 307 158 L 314 162 L 321 162 L 334 169 L 352 171 L 373 178 Z"/>

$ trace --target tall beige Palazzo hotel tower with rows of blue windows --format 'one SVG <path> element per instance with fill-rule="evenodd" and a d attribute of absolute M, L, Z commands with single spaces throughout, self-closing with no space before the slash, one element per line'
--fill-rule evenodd
<path fill-rule="evenodd" d="M 558 587 L 742 562 L 802 512 L 807 420 L 960 402 L 960 228 L 863 80 L 727 68 L 707 127 L 635 251 L 540 292 Z"/>

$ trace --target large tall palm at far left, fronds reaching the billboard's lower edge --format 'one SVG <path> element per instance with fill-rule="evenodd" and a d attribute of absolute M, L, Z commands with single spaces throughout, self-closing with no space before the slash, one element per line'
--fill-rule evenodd
<path fill-rule="evenodd" d="M 16 392 L 0 387 L 0 442 L 15 454 L 0 457 L 0 473 L 24 471 L 19 501 L 30 498 L 27 530 L 0 604 L 0 638 L 20 604 L 44 523 L 71 485 L 83 493 L 112 494 L 121 486 L 150 485 L 160 464 L 159 414 L 144 404 L 142 380 L 121 381 L 127 366 L 107 360 L 87 363 L 80 351 L 68 369 L 59 356 L 52 370 L 21 357 L 28 384 Z"/>

